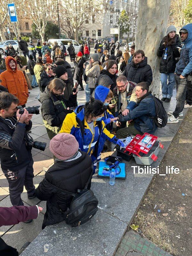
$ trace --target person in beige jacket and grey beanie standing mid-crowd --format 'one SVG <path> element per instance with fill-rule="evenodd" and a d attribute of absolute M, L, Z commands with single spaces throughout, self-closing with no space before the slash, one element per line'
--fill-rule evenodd
<path fill-rule="evenodd" d="M 92 95 L 95 89 L 95 81 L 97 77 L 100 75 L 100 65 L 99 65 L 99 54 L 93 53 L 91 56 L 91 60 L 89 64 L 87 64 L 85 68 L 85 75 L 89 77 L 89 88 L 90 88 L 90 95 Z"/>

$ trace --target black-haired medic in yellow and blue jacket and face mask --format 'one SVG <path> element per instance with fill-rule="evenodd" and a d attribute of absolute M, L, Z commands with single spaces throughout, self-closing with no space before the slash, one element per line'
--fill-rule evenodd
<path fill-rule="evenodd" d="M 103 143 L 102 135 L 110 142 L 124 146 L 121 140 L 105 128 L 105 123 L 101 119 L 106 110 L 107 107 L 102 101 L 91 98 L 84 106 L 78 106 L 73 113 L 65 117 L 59 132 L 75 136 L 79 148 L 91 156 L 94 170 L 100 156 L 100 142 Z"/>

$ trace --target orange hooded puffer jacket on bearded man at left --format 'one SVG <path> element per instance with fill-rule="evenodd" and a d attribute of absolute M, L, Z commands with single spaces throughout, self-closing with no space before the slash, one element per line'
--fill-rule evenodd
<path fill-rule="evenodd" d="M 13 71 L 9 66 L 9 61 L 14 60 L 16 68 Z M 28 85 L 25 76 L 22 71 L 17 70 L 17 62 L 11 57 L 5 58 L 5 64 L 7 70 L 0 74 L 1 85 L 7 88 L 7 90 L 15 95 L 19 99 L 18 105 L 24 105 L 28 99 Z"/>

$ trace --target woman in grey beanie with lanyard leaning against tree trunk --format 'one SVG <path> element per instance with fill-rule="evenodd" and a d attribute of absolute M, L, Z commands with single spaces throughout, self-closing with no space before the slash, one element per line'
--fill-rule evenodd
<path fill-rule="evenodd" d="M 174 71 L 176 67 L 176 57 L 180 57 L 179 48 L 181 42 L 179 35 L 176 34 L 175 26 L 167 28 L 166 36 L 161 41 L 157 50 L 157 56 L 161 57 L 159 72 L 161 73 L 162 94 L 164 102 L 170 102 L 175 85 Z M 168 84 L 167 84 L 168 79 Z"/>

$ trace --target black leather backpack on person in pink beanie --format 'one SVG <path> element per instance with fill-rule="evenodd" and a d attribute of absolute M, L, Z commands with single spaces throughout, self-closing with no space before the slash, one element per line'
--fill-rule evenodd
<path fill-rule="evenodd" d="M 76 194 L 63 190 L 61 188 L 57 188 L 50 183 L 53 187 L 61 190 L 62 192 L 74 196 L 70 206 L 65 212 L 65 221 L 67 224 L 71 225 L 71 227 L 77 227 L 84 224 L 85 222 L 90 220 L 98 210 L 97 205 L 99 202 L 97 197 L 94 195 L 91 189 L 87 189 L 91 179 L 92 174 L 89 177 L 89 180 L 87 181 L 84 189 L 77 189 Z"/>

